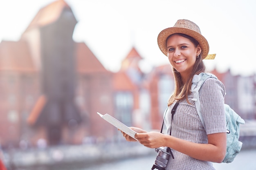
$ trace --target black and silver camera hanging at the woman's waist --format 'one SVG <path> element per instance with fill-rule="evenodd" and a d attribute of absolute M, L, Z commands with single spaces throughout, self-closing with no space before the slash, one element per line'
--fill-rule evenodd
<path fill-rule="evenodd" d="M 157 158 L 155 159 L 155 163 L 151 168 L 151 170 L 154 170 L 154 169 L 165 170 L 167 163 L 169 161 L 170 155 L 173 157 L 173 152 L 171 151 L 171 148 L 162 146 L 159 148 L 155 148 L 155 151 L 157 152 Z"/>

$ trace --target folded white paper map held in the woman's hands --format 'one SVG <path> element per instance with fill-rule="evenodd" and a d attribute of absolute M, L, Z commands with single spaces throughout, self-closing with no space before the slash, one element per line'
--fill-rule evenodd
<path fill-rule="evenodd" d="M 101 116 L 101 118 L 108 121 L 110 124 L 112 124 L 116 128 L 120 129 L 121 131 L 125 132 L 127 135 L 129 135 L 130 137 L 135 139 L 134 136 L 135 136 L 136 132 L 134 130 L 132 130 L 131 128 L 129 128 L 128 126 L 126 126 L 125 124 L 121 123 L 120 121 L 118 121 L 117 119 L 115 119 L 114 117 L 112 117 L 108 114 L 101 115 L 99 112 L 97 112 L 97 113 L 98 113 L 98 115 Z M 135 139 L 135 140 L 137 140 L 137 139 Z"/>

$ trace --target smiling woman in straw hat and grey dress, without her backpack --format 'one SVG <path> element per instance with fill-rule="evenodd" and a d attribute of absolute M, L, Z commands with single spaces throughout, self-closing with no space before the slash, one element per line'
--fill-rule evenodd
<path fill-rule="evenodd" d="M 219 80 L 209 78 L 200 88 L 206 130 L 191 100 L 192 79 L 205 71 L 202 60 L 208 55 L 209 44 L 199 27 L 189 20 L 178 20 L 173 27 L 161 31 L 157 42 L 173 67 L 175 78 L 175 90 L 164 117 L 167 132 L 131 127 L 137 132 L 135 138 L 148 148 L 171 148 L 174 159 L 170 157 L 166 170 L 214 170 L 211 162 L 221 163 L 226 153 L 225 87 Z M 179 105 L 172 120 L 171 110 L 177 101 Z M 127 141 L 136 141 L 122 133 Z"/>

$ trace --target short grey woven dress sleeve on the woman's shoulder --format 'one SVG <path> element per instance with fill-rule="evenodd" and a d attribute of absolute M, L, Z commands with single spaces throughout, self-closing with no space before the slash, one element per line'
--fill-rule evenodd
<path fill-rule="evenodd" d="M 207 135 L 226 132 L 225 87 L 220 80 L 207 79 L 199 91 L 202 117 Z"/>

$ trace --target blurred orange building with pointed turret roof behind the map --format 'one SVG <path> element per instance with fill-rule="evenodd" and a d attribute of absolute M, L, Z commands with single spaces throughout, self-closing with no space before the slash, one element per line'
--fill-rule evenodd
<path fill-rule="evenodd" d="M 114 74 L 115 116 L 127 126 L 150 129 L 150 93 L 147 75 L 141 71 L 143 58 L 135 47 Z"/>

